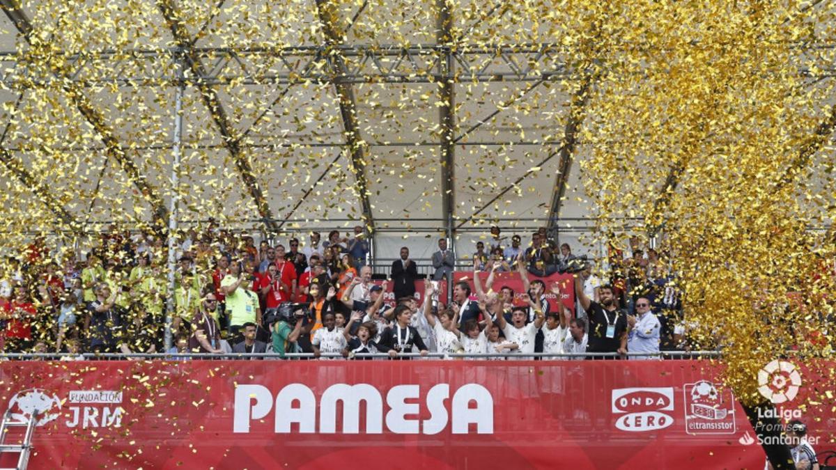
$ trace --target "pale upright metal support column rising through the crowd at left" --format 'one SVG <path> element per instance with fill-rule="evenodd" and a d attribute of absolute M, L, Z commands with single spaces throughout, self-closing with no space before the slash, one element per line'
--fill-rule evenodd
<path fill-rule="evenodd" d="M 171 209 L 168 212 L 168 292 L 166 295 L 166 351 L 171 349 L 171 322 L 175 309 L 174 292 L 176 289 L 174 273 L 177 266 L 177 252 L 175 247 L 175 232 L 177 230 L 177 206 L 180 202 L 180 157 L 183 133 L 183 91 L 186 83 L 183 79 L 184 64 L 180 61 L 178 74 L 180 83 L 177 84 L 174 100 L 174 146 L 171 149 Z"/>

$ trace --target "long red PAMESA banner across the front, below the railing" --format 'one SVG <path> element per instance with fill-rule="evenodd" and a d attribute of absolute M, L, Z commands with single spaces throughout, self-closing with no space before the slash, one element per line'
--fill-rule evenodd
<path fill-rule="evenodd" d="M 707 361 L 32 360 L 0 375 L 16 416 L 43 411 L 33 468 L 762 468 L 765 458 Z M 803 415 L 823 450 L 832 413 Z"/>

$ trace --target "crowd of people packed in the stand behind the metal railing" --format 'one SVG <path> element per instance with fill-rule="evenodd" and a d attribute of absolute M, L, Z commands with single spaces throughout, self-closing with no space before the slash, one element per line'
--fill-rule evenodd
<path fill-rule="evenodd" d="M 492 227 L 472 258 L 458 257 L 472 261 L 472 284 L 457 282 L 446 299 L 437 281 L 452 281 L 456 257 L 445 238 L 432 255 L 435 273 L 423 295 L 415 292 L 421 277 L 408 248 L 380 285 L 366 265 L 363 227 L 350 234 L 334 230 L 325 240 L 318 232 L 304 238 L 256 246 L 250 236 L 212 225 L 187 232 L 176 243 L 173 292 L 161 238 L 106 231 L 81 257 L 52 253 L 36 238 L 0 266 L 3 351 L 66 358 L 81 352 L 268 352 L 357 359 L 438 352 L 496 360 L 539 352 L 568 359 L 585 352 L 624 356 L 682 346 L 673 278 L 637 240 L 627 253 L 611 251 L 605 283 L 593 263 L 576 258 L 568 244 L 553 243 L 545 230 L 524 245 L 519 235 L 503 238 Z M 480 272 L 487 273 L 484 286 Z M 511 288 L 494 285 L 495 273 L 503 272 L 519 273 L 522 302 Z M 549 304 L 547 294 L 560 294 L 560 286 L 543 280 L 553 273 L 573 274 L 575 308 Z M 387 303 L 390 284 L 395 295 Z M 166 328 L 174 338 L 170 350 L 164 350 Z"/>

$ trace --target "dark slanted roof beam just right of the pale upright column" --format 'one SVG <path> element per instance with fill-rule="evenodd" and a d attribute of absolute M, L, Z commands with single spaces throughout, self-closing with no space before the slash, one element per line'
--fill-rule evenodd
<path fill-rule="evenodd" d="M 181 23 L 181 18 L 177 16 L 177 9 L 174 2 L 172 0 L 157 0 L 156 5 L 162 13 L 163 18 L 166 19 L 168 28 L 171 30 L 171 35 L 180 48 L 182 59 L 186 62 L 186 66 L 196 79 L 196 86 L 201 92 L 203 103 L 206 105 L 209 114 L 212 115 L 212 120 L 215 121 L 218 130 L 221 132 L 223 145 L 232 156 L 232 161 L 235 162 L 238 174 L 241 176 L 250 197 L 252 197 L 252 201 L 256 204 L 258 215 L 262 217 L 264 225 L 269 231 L 278 231 L 278 225 L 273 218 L 273 212 L 270 210 L 262 188 L 258 184 L 255 171 L 252 170 L 250 161 L 242 152 L 237 133 L 217 95 L 217 90 L 212 88 L 211 84 L 207 84 L 201 79 L 201 77 L 206 76 L 206 69 L 196 54 L 194 40 L 186 30 L 186 25 Z"/>

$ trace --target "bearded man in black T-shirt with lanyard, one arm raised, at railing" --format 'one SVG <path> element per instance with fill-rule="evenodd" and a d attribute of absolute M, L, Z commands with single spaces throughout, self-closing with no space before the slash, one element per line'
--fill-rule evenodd
<path fill-rule="evenodd" d="M 584 281 L 575 275 L 575 296 L 589 317 L 589 343 L 586 352 L 627 354 L 627 314 L 618 308 L 613 288 L 599 288 L 601 303 L 590 300 L 584 293 Z M 611 359 L 609 357 L 605 359 Z"/>

